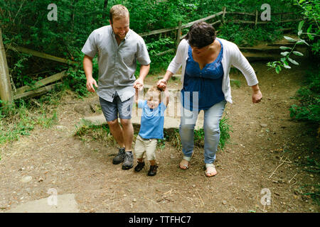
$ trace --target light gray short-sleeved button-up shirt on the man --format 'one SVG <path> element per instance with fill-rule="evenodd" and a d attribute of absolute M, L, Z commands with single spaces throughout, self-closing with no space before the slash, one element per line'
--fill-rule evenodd
<path fill-rule="evenodd" d="M 137 60 L 141 65 L 151 62 L 144 40 L 131 29 L 118 46 L 111 26 L 97 28 L 89 35 L 81 51 L 90 57 L 95 57 L 98 52 L 97 94 L 107 101 L 113 101 L 115 92 L 121 101 L 134 96 Z"/>

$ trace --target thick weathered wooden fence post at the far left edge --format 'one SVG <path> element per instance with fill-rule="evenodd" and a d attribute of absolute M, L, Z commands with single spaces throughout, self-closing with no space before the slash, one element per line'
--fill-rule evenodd
<path fill-rule="evenodd" d="M 8 65 L 6 62 L 6 52 L 2 42 L 2 32 L 0 28 L 0 99 L 2 101 L 12 102 L 12 89 L 9 77 Z"/>

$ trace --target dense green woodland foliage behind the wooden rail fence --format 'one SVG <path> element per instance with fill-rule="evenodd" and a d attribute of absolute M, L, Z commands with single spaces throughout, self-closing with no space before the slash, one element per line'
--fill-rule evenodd
<path fill-rule="evenodd" d="M 48 21 L 48 5 L 55 3 L 58 6 L 58 21 Z M 109 0 L 104 7 L 105 0 L 2 0 L 0 1 L 0 26 L 4 43 L 18 45 L 39 52 L 45 52 L 68 60 L 82 62 L 80 52 L 88 35 L 102 26 L 109 24 L 109 11 L 114 4 L 127 6 L 130 12 L 130 28 L 137 33 L 144 33 L 161 28 L 171 28 L 178 25 L 178 21 L 188 23 L 213 13 L 222 11 L 242 11 L 255 13 L 262 4 L 270 4 L 272 13 L 294 11 L 297 6 L 289 0 Z M 226 19 L 233 20 L 235 16 L 228 15 Z M 254 20 L 252 16 L 243 16 L 241 19 Z M 277 29 L 282 25 L 277 23 L 274 16 L 268 25 L 254 28 L 252 25 L 243 26 L 228 23 L 223 28 L 216 28 L 218 36 L 226 38 L 238 45 L 254 45 L 259 40 L 270 41 L 279 37 Z M 290 26 L 286 24 L 285 26 Z M 188 29 L 183 30 L 186 34 Z M 235 31 L 237 31 L 235 33 Z M 176 33 L 169 32 L 161 35 L 144 37 L 151 55 L 151 74 L 164 70 L 173 57 L 173 53 L 156 57 L 155 54 L 175 47 Z M 34 83 L 39 77 L 54 74 L 60 70 L 67 70 L 67 66 L 48 62 L 36 57 L 23 55 L 18 52 L 7 51 L 9 68 L 16 87 Z M 47 72 L 48 71 L 48 72 Z M 45 75 L 36 72 L 47 72 Z M 68 86 L 81 96 L 85 89 L 79 84 L 85 80 L 83 71 L 70 71 Z M 97 66 L 95 66 L 97 72 Z M 97 78 L 97 73 L 94 73 Z M 82 86 L 82 85 L 81 85 Z"/>

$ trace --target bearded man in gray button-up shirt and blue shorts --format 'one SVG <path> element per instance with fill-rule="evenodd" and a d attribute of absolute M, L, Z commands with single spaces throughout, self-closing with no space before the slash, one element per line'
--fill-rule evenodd
<path fill-rule="evenodd" d="M 131 123 L 135 88 L 141 88 L 150 69 L 150 58 L 144 40 L 129 29 L 129 11 L 125 6 L 115 5 L 110 9 L 110 26 L 93 31 L 82 52 L 83 68 L 87 77 L 87 90 L 95 92 L 100 99 L 110 132 L 119 144 L 119 153 L 112 160 L 122 163 L 123 170 L 133 167 Z M 99 87 L 92 77 L 92 58 L 98 52 Z M 134 77 L 137 60 L 141 64 L 139 78 Z M 119 125 L 118 116 L 121 125 Z"/>

